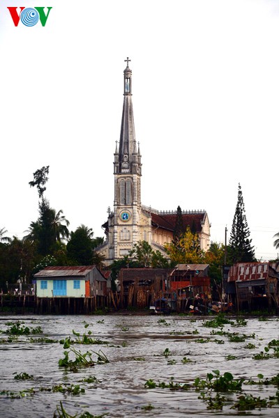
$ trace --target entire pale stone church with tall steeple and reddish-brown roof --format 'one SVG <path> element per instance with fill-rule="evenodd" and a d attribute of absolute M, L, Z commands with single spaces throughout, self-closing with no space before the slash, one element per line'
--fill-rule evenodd
<path fill-rule="evenodd" d="M 119 142 L 114 151 L 114 210 L 109 212 L 105 229 L 106 240 L 97 248 L 110 265 L 129 254 L 139 241 L 149 242 L 154 251 L 165 254 L 164 244 L 173 239 L 176 211 L 160 211 L 142 205 L 141 176 L 142 155 L 135 139 L 132 102 L 132 70 L 127 63 L 123 77 L 123 111 Z M 210 245 L 209 217 L 204 210 L 183 210 L 183 226 L 199 235 L 204 251 Z"/>

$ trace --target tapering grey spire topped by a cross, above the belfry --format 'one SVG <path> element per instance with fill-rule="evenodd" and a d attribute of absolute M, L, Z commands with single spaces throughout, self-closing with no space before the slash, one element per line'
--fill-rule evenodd
<path fill-rule="evenodd" d="M 124 70 L 123 89 L 123 111 L 121 121 L 121 132 L 119 139 L 119 173 L 138 173 L 140 165 L 135 161 L 136 139 L 132 103 L 132 70 L 129 68 L 130 59 L 127 57 Z"/>

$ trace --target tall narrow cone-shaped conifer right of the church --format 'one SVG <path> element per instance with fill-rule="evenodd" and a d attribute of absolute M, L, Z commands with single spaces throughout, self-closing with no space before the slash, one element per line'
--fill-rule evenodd
<path fill-rule="evenodd" d="M 232 231 L 229 238 L 229 258 L 231 263 L 249 263 L 255 261 L 255 251 L 245 214 L 245 206 L 241 185 L 237 196 L 236 210 L 232 221 Z"/>

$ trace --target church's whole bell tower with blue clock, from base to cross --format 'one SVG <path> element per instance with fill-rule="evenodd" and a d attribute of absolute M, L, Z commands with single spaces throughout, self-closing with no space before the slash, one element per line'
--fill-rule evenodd
<path fill-rule="evenodd" d="M 110 258 L 114 259 L 127 255 L 140 239 L 142 156 L 135 139 L 130 59 L 125 62 L 121 131 L 114 152 L 113 231 L 110 229 Z"/>

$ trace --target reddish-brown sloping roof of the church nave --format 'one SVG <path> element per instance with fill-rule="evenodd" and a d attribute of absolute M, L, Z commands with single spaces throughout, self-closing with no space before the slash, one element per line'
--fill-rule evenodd
<path fill-rule="evenodd" d="M 202 224 L 206 217 L 206 212 L 187 212 L 182 213 L 183 227 L 187 226 L 190 229 L 195 229 L 196 232 L 202 231 Z M 153 226 L 157 226 L 168 231 L 174 231 L 176 224 L 176 212 L 160 215 L 158 213 L 151 212 L 151 222 Z"/>

